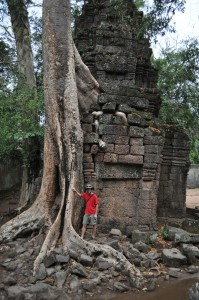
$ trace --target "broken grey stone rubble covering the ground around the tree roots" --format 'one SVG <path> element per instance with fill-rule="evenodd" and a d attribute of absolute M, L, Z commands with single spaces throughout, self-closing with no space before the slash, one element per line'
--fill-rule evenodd
<path fill-rule="evenodd" d="M 92 242 L 122 252 L 144 277 L 143 289 L 153 291 L 160 281 L 199 272 L 199 234 L 175 227 L 167 227 L 165 232 L 167 240 L 157 231 L 135 230 L 127 237 L 113 228 L 108 235 L 99 234 Z M 42 236 L 21 238 L 0 246 L 0 300 L 78 300 L 101 294 L 138 292 L 135 280 L 119 263 L 113 265 L 110 258 L 100 253 L 95 256 L 74 250 L 65 253 L 61 246 L 43 260 L 33 276 L 33 263 L 41 242 Z"/>

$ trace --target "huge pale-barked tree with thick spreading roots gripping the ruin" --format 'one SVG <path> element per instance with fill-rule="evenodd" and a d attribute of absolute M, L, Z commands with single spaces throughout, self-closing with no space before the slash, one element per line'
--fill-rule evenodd
<path fill-rule="evenodd" d="M 121 253 L 109 246 L 85 242 L 75 230 L 80 222 L 80 205 L 72 188 L 81 188 L 82 183 L 80 111 L 89 110 L 97 101 L 100 88 L 73 44 L 69 0 L 43 2 L 43 58 L 46 123 L 42 186 L 31 208 L 1 227 L 0 240 L 37 230 L 43 221 L 48 228 L 34 271 L 61 238 L 65 251 L 80 248 L 85 253 L 104 253 L 113 263 L 122 262 L 139 286 L 139 271 Z M 59 211 L 51 223 L 55 204 Z"/>

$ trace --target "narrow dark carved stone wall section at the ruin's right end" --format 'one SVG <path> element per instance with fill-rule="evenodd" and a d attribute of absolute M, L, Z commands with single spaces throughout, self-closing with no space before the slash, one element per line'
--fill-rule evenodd
<path fill-rule="evenodd" d="M 165 143 L 158 192 L 159 219 L 186 216 L 186 181 L 189 170 L 189 139 L 179 127 L 165 128 Z"/>

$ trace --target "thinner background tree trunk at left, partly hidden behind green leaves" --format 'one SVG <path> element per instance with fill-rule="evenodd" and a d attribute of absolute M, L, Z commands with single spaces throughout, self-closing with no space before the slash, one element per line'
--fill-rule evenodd
<path fill-rule="evenodd" d="M 12 29 L 16 41 L 17 64 L 22 86 L 32 90 L 32 99 L 36 97 L 36 78 L 33 66 L 33 54 L 30 42 L 28 11 L 24 0 L 6 0 L 11 16 Z M 21 83 L 20 83 L 21 84 Z M 31 101 L 31 100 L 27 100 Z M 37 111 L 35 111 L 37 121 Z M 22 130 L 26 130 L 22 128 Z M 24 140 L 24 151 L 28 153 L 28 163 L 24 164 L 19 209 L 31 201 L 35 179 L 40 171 L 40 146 L 37 137 Z"/>

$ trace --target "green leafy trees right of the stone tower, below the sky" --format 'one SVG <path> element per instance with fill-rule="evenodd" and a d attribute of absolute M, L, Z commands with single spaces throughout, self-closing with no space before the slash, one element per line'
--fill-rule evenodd
<path fill-rule="evenodd" d="M 154 66 L 159 70 L 158 87 L 162 98 L 159 117 L 178 123 L 192 141 L 190 161 L 198 161 L 199 139 L 199 42 L 184 41 L 179 49 L 167 48 Z"/>

